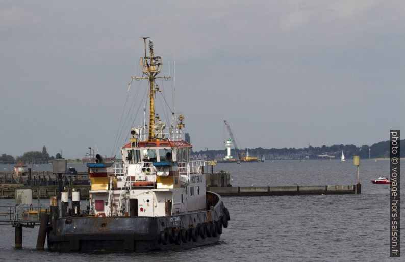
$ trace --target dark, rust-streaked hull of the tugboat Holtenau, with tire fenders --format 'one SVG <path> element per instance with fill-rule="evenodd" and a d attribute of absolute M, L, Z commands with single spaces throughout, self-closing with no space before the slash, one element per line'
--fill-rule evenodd
<path fill-rule="evenodd" d="M 230 219 L 217 196 L 219 201 L 211 210 L 183 215 L 59 218 L 55 229 L 48 232 L 48 248 L 59 252 L 145 252 L 213 244 Z"/>

